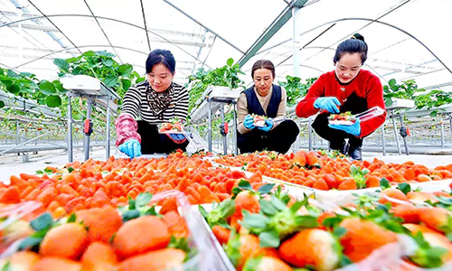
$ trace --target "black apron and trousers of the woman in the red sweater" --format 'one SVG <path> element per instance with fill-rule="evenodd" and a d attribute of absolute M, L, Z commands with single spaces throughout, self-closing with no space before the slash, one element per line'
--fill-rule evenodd
<path fill-rule="evenodd" d="M 356 96 L 354 93 L 350 95 L 341 107 L 341 113 L 351 111 L 353 115 L 366 111 L 367 101 L 364 98 Z M 330 128 L 328 126 L 328 117 L 330 113 L 319 114 L 315 117 L 312 127 L 315 133 L 330 142 L 330 148 L 333 150 L 342 150 L 345 144 L 345 138 L 348 138 L 348 144 L 353 147 L 363 145 L 363 138 L 356 137 L 345 133 L 342 130 Z"/>

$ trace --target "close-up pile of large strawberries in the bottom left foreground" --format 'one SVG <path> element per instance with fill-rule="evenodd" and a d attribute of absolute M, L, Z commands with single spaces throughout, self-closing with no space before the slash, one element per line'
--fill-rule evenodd
<path fill-rule="evenodd" d="M 78 210 L 54 220 L 48 212 L 32 220 L 18 252 L 0 262 L 2 270 L 166 270 L 196 256 L 190 231 L 177 206 L 155 211 L 143 193 L 127 208 Z M 163 211 L 165 210 L 165 211 Z M 149 230 L 152 229 L 152 230 Z"/>

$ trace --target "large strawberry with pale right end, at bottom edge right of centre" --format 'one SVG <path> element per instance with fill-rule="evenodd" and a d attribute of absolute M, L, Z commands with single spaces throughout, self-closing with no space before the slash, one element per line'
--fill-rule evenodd
<path fill-rule="evenodd" d="M 304 229 L 285 240 L 279 256 L 292 266 L 334 270 L 339 265 L 341 246 L 333 234 L 323 229 Z"/>

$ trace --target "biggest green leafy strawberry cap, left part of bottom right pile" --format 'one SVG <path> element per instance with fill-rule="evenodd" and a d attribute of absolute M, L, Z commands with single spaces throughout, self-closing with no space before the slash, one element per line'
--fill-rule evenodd
<path fill-rule="evenodd" d="M 278 248 L 282 239 L 296 233 L 300 229 L 315 228 L 318 226 L 317 217 L 299 215 L 298 210 L 308 205 L 305 201 L 296 201 L 290 208 L 287 202 L 271 195 L 271 200 L 260 201 L 260 213 L 243 211 L 241 226 L 258 235 L 260 247 Z"/>

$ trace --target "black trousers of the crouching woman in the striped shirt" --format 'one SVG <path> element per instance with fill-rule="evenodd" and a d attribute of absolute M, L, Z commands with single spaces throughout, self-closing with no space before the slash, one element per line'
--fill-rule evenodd
<path fill-rule="evenodd" d="M 176 144 L 167 135 L 160 135 L 156 125 L 138 120 L 137 132 L 141 135 L 141 154 L 170 154 L 177 149 L 185 152 L 188 140 L 183 144 Z"/>

